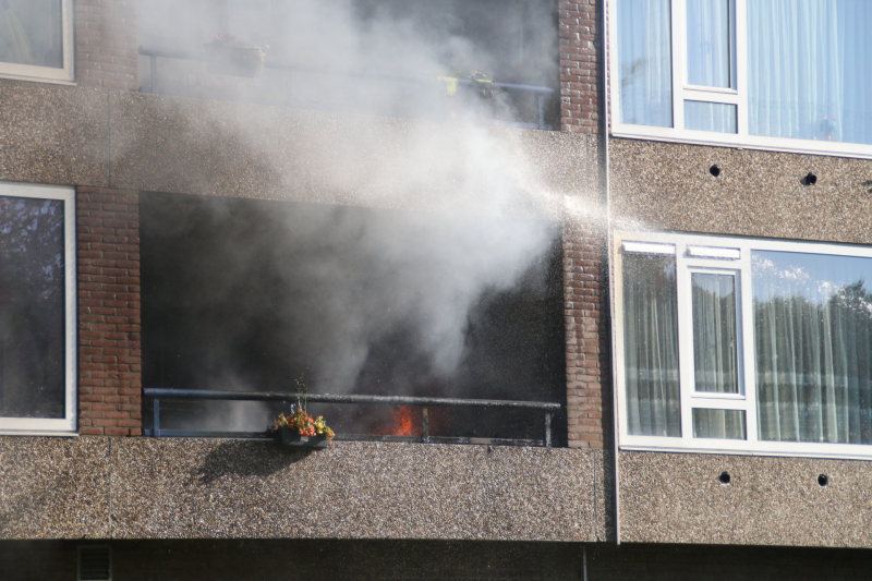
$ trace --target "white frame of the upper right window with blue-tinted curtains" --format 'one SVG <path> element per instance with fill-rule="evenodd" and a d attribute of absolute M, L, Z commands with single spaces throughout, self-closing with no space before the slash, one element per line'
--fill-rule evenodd
<path fill-rule="evenodd" d="M 607 0 L 609 19 L 609 76 L 611 86 L 619 86 L 618 62 L 618 2 Z M 797 154 L 838 155 L 872 159 L 872 145 L 765 137 L 748 134 L 748 31 L 747 0 L 736 2 L 736 88 L 698 87 L 687 83 L 687 0 L 671 2 L 671 58 L 673 58 L 673 125 L 658 128 L 634 125 L 620 121 L 620 90 L 610 90 L 611 135 L 615 137 L 689 143 L 694 145 L 748 147 L 752 149 L 790 152 Z M 678 34 L 676 34 L 678 31 Z M 718 133 L 685 129 L 685 100 L 723 102 L 737 106 L 738 133 Z"/>

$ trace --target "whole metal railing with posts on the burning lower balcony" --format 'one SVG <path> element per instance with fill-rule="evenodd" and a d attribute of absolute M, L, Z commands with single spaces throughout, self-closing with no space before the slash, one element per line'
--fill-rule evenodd
<path fill-rule="evenodd" d="M 205 389 L 173 389 L 168 387 L 147 387 L 143 396 L 153 402 L 152 429 L 145 429 L 146 436 L 154 437 L 233 437 L 266 439 L 265 432 L 207 432 L 196 429 L 166 429 L 160 426 L 161 400 L 213 400 L 213 401 L 278 401 L 292 403 L 305 398 L 310 403 L 351 403 L 366 406 L 410 406 L 421 408 L 421 436 L 375 436 L 364 434 L 338 434 L 338 440 L 379 440 L 379 441 L 422 441 L 438 444 L 494 444 L 509 446 L 552 446 L 552 421 L 554 413 L 562 406 L 545 401 L 514 401 L 496 399 L 460 399 L 460 398 L 420 398 L 405 396 L 360 396 L 328 394 L 279 394 L 250 391 L 215 391 Z M 543 412 L 545 415 L 544 439 L 506 439 L 506 438 L 467 438 L 431 436 L 428 408 L 499 408 L 521 409 Z"/>

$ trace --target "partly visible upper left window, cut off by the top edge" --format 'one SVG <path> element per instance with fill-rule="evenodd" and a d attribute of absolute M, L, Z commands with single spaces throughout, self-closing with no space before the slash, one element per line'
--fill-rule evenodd
<path fill-rule="evenodd" d="M 0 75 L 73 81 L 72 0 L 0 0 Z"/>

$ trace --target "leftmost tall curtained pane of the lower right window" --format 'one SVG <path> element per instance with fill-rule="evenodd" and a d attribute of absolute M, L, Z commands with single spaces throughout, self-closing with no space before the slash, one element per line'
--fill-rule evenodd
<path fill-rule="evenodd" d="M 680 436 L 675 256 L 623 256 L 623 359 L 630 434 Z"/>

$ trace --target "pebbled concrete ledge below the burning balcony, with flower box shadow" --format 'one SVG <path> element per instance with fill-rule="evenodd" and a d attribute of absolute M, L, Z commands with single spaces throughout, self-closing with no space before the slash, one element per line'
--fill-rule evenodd
<path fill-rule="evenodd" d="M 602 453 L 337 443 L 0 438 L 3 538 L 593 542 Z M 600 492 L 597 492 L 597 489 Z"/>

